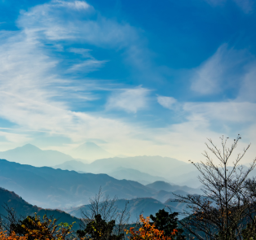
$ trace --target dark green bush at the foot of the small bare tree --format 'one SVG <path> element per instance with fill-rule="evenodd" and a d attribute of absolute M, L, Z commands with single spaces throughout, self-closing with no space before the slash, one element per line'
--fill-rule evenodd
<path fill-rule="evenodd" d="M 90 221 L 86 225 L 86 229 L 77 230 L 77 235 L 79 238 L 90 238 L 94 240 L 121 240 L 124 238 L 124 234 L 116 235 L 113 233 L 113 228 L 115 226 L 115 220 L 110 220 L 106 222 L 100 216 L 100 214 L 95 215 L 95 220 Z"/>

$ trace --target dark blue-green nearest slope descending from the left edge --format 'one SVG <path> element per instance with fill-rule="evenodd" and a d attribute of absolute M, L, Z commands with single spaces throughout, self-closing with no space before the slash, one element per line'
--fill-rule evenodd
<path fill-rule="evenodd" d="M 21 199 L 20 196 L 15 194 L 14 192 L 10 192 L 8 190 L 4 190 L 0 187 L 0 214 L 3 216 L 7 216 L 7 211 L 3 206 L 7 204 L 8 207 L 12 207 L 15 209 L 17 216 L 34 216 L 34 213 L 38 213 L 38 216 L 54 216 L 54 218 L 59 219 L 58 222 L 68 222 L 68 224 L 72 224 L 74 221 L 76 224 L 74 225 L 74 229 L 79 228 L 79 220 L 76 217 L 70 216 L 68 213 L 60 211 L 60 210 L 52 210 L 52 209 L 43 209 L 37 206 L 33 206 Z"/>

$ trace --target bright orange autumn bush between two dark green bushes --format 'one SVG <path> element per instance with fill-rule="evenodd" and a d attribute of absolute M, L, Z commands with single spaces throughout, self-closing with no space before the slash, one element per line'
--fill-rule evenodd
<path fill-rule="evenodd" d="M 126 230 L 126 233 L 130 235 L 128 237 L 130 240 L 172 240 L 178 232 L 177 229 L 174 229 L 174 231 L 170 233 L 170 236 L 165 236 L 164 231 L 156 229 L 154 224 L 150 224 L 149 216 L 144 218 L 140 215 L 139 221 L 142 224 L 139 231 L 136 231 L 135 228 Z"/>

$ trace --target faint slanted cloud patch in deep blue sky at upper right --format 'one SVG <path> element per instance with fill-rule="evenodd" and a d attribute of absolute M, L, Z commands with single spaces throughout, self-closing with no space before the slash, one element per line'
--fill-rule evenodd
<path fill-rule="evenodd" d="M 234 88 L 241 81 L 249 55 L 243 50 L 228 49 L 224 44 L 216 53 L 194 70 L 191 89 L 197 94 L 219 94 Z"/>

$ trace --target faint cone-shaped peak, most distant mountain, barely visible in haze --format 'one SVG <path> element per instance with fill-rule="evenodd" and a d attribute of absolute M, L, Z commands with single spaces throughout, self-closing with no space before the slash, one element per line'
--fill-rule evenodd
<path fill-rule="evenodd" d="M 80 159 L 104 159 L 113 157 L 108 151 L 95 144 L 94 142 L 85 142 L 81 146 L 70 152 L 70 154 L 75 158 Z"/>

